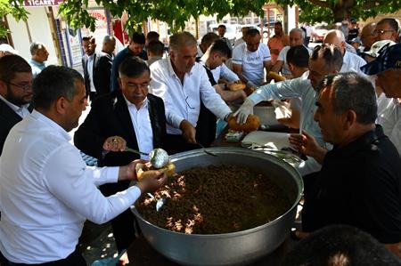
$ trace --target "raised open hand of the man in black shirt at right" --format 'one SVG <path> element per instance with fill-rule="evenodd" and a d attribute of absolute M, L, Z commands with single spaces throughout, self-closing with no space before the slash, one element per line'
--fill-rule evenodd
<path fill-rule="evenodd" d="M 327 149 L 321 147 L 312 135 L 305 131 L 302 134 L 291 134 L 289 141 L 295 149 L 298 149 L 299 153 L 314 157 L 318 163 L 323 163 Z"/>

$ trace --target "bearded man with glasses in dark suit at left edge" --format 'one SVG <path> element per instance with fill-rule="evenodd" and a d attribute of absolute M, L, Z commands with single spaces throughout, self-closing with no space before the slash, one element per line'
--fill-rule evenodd
<path fill-rule="evenodd" d="M 29 115 L 32 101 L 32 69 L 16 54 L 0 59 L 0 155 L 12 126 Z"/>

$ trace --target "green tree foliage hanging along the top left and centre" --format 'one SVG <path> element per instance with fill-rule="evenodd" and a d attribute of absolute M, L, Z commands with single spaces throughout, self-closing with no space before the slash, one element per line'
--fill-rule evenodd
<path fill-rule="evenodd" d="M 139 29 L 149 17 L 152 20 L 165 21 L 173 31 L 184 28 L 185 21 L 199 18 L 201 14 L 217 14 L 222 19 L 226 14 L 245 16 L 255 12 L 262 16 L 262 5 L 265 0 L 96 0 L 110 10 L 114 16 L 128 13 L 127 28 Z M 95 20 L 85 8 L 87 0 L 69 0 L 61 4 L 60 14 L 71 28 L 91 28 Z"/>

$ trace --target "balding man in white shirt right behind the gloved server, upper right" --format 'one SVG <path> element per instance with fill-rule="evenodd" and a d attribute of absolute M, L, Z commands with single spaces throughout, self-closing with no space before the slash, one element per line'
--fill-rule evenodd
<path fill-rule="evenodd" d="M 323 44 L 333 44 L 340 49 L 343 56 L 342 67 L 340 73 L 356 72 L 364 76 L 361 67 L 366 64 L 366 61 L 358 56 L 356 53 L 346 51 L 345 36 L 339 29 L 329 30 L 323 38 Z"/>

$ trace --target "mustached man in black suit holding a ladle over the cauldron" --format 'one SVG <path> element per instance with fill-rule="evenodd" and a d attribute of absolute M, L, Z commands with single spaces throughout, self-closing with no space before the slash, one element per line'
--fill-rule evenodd
<path fill-rule="evenodd" d="M 120 90 L 94 102 L 85 122 L 75 133 L 74 143 L 78 149 L 98 158 L 103 166 L 115 166 L 126 165 L 138 156 L 126 151 L 104 152 L 109 145 L 145 153 L 163 148 L 166 138 L 164 103 L 161 98 L 148 94 L 150 75 L 146 63 L 137 57 L 129 57 L 120 64 Z M 119 181 L 102 185 L 101 190 L 105 196 L 110 196 L 127 189 L 128 184 L 129 181 Z M 134 216 L 127 210 L 113 219 L 111 225 L 121 252 L 135 239 Z"/>

